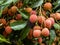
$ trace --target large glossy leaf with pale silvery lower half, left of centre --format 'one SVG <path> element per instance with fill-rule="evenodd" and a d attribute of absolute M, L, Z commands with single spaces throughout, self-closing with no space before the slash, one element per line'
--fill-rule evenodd
<path fill-rule="evenodd" d="M 13 30 L 21 30 L 27 25 L 25 21 L 16 21 L 14 23 L 10 23 L 10 26 Z"/>

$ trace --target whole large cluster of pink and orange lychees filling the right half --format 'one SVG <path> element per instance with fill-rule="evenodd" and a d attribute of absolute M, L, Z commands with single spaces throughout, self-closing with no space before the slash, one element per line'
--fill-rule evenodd
<path fill-rule="evenodd" d="M 52 9 L 52 4 L 50 2 L 46 2 L 43 8 L 44 11 L 41 12 L 42 15 L 37 15 L 37 12 L 35 10 L 28 8 L 30 13 L 29 21 L 32 24 L 35 23 L 35 26 L 30 30 L 28 34 L 28 39 L 37 38 L 39 44 L 41 44 L 43 41 L 42 36 L 49 37 L 50 29 L 55 24 L 55 21 L 60 20 L 60 13 L 58 12 L 51 13 L 50 17 L 46 15 L 46 11 L 50 11 Z"/>

